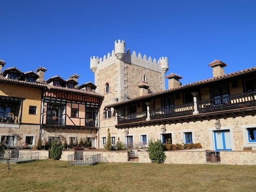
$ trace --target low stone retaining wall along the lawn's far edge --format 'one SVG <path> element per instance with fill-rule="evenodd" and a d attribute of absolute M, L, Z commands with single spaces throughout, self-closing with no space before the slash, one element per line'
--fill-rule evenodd
<path fill-rule="evenodd" d="M 48 150 L 20 150 L 20 152 L 39 152 L 40 159 L 48 159 Z M 62 151 L 61 161 L 67 161 L 69 155 L 75 151 Z M 104 151 L 86 150 L 83 154 L 101 154 L 108 162 L 129 162 L 127 151 Z M 166 160 L 164 164 L 207 164 L 206 151 L 204 149 L 192 149 L 184 151 L 165 151 Z M 146 149 L 138 150 L 140 163 L 151 163 Z M 256 165 L 256 151 L 220 151 L 220 162 L 218 164 L 231 165 Z"/>

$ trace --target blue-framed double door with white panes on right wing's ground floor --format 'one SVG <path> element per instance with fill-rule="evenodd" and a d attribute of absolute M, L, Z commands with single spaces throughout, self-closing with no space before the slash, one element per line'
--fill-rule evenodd
<path fill-rule="evenodd" d="M 214 131 L 215 150 L 231 151 L 231 135 L 229 130 Z"/>

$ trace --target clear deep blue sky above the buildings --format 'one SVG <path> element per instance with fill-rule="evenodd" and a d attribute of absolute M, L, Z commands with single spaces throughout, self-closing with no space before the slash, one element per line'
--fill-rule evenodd
<path fill-rule="evenodd" d="M 43 66 L 45 78 L 94 82 L 90 57 L 103 57 L 115 40 L 126 48 L 169 59 L 182 84 L 256 66 L 254 0 L 0 0 L 0 59 L 26 72 Z"/>

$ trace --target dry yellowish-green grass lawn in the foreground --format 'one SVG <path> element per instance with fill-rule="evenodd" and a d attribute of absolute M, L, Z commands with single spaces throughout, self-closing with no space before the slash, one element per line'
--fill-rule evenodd
<path fill-rule="evenodd" d="M 0 191 L 255 191 L 256 165 L 0 164 Z"/>

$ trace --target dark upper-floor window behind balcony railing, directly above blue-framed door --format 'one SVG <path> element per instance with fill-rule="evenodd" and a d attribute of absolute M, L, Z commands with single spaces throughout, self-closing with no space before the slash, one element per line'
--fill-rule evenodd
<path fill-rule="evenodd" d="M 214 104 L 226 104 L 229 102 L 229 90 L 228 85 L 213 87 L 213 99 L 215 99 Z"/>

